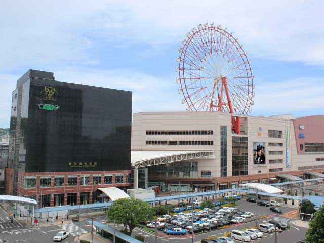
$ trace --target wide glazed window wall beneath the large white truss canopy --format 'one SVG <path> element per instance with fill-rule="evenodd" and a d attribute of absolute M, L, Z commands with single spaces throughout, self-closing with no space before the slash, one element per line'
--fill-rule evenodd
<path fill-rule="evenodd" d="M 198 162 L 179 161 L 168 164 L 149 166 L 148 177 L 198 177 Z"/>

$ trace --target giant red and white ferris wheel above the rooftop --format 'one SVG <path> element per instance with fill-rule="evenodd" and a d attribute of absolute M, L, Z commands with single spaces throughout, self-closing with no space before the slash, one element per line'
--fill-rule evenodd
<path fill-rule="evenodd" d="M 179 48 L 176 79 L 188 111 L 251 112 L 254 85 L 247 53 L 226 28 L 197 26 Z M 235 118 L 232 118 L 235 127 Z M 239 130 L 239 129 L 238 129 Z"/>

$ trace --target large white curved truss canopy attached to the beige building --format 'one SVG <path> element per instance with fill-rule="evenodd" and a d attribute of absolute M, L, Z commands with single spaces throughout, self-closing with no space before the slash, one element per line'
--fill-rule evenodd
<path fill-rule="evenodd" d="M 211 158 L 214 151 L 132 150 L 131 162 L 136 168 L 167 164 L 195 158 Z"/>

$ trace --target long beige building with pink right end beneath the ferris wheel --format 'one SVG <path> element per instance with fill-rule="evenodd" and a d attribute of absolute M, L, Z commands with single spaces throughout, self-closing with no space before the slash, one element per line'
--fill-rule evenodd
<path fill-rule="evenodd" d="M 221 112 L 133 115 L 134 188 L 170 191 L 237 188 L 324 177 L 324 116 L 240 117 Z"/>

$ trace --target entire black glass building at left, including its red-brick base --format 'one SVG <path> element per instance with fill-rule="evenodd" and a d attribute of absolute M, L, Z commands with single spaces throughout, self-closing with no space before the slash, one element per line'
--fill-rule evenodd
<path fill-rule="evenodd" d="M 5 191 L 41 207 L 94 203 L 130 186 L 132 93 L 29 70 L 12 93 Z"/>

